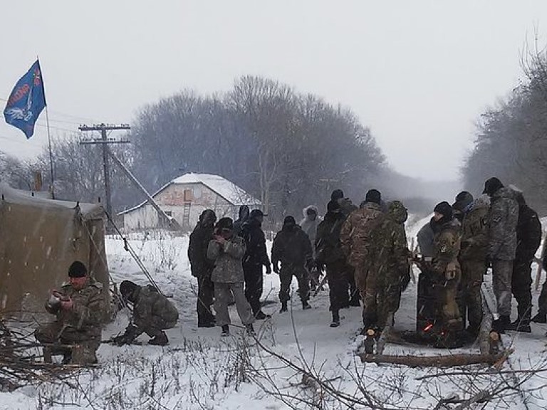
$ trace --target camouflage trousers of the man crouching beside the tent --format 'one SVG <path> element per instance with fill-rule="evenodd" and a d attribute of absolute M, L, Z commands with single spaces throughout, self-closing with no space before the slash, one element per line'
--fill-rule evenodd
<path fill-rule="evenodd" d="M 45 362 L 51 362 L 53 354 L 63 354 L 63 362 L 66 363 L 97 363 L 95 353 L 100 346 L 100 334 L 88 335 L 88 333 L 78 332 L 73 327 L 65 327 L 61 322 L 53 322 L 38 327 L 34 332 L 34 337 L 40 343 L 52 345 L 43 348 Z"/>

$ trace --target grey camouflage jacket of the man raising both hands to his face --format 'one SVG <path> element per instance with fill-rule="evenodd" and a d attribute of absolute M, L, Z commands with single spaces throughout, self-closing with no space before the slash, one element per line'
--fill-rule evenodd
<path fill-rule="evenodd" d="M 207 258 L 215 261 L 211 280 L 219 283 L 244 282 L 242 260 L 245 251 L 245 241 L 241 236 L 232 236 L 222 245 L 215 240 L 209 241 Z"/>

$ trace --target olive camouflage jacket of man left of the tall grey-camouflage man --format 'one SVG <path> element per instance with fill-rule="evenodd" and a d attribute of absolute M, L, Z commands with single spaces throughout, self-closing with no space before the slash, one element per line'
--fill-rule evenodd
<path fill-rule="evenodd" d="M 479 196 L 464 210 L 460 261 L 485 261 L 488 252 L 488 220 L 490 204 Z"/>

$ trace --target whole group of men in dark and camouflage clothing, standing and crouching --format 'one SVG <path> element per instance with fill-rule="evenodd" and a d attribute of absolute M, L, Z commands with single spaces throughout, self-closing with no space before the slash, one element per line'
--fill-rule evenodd
<path fill-rule="evenodd" d="M 330 326 L 340 325 L 340 309 L 362 302 L 363 330 L 377 334 L 394 322 L 412 263 L 422 273 L 417 320 L 424 326 L 419 324 L 419 331 L 432 330 L 439 347 L 456 347 L 462 335 L 478 335 L 483 319 L 481 284 L 489 266 L 499 315 L 494 330 L 531 332 L 531 322 L 547 322 L 547 280 L 538 313 L 531 316 L 531 264 L 542 230 L 538 214 L 521 191 L 494 177 L 485 182 L 483 195 L 476 199 L 462 191 L 454 204 L 437 204 L 434 216 L 418 233 L 420 256 L 408 248 L 407 216 L 401 201 L 385 204 L 377 189 L 370 189 L 359 207 L 336 189 L 323 220 L 313 206 L 304 210 L 300 224 L 286 216 L 273 239 L 270 261 L 262 211 L 241 206 L 236 221 L 226 217 L 217 221 L 214 211 L 205 210 L 188 248 L 192 275 L 198 280 L 198 326 L 220 326 L 222 335 L 229 335 L 228 305 L 235 303 L 247 332 L 254 334 L 254 321 L 269 317 L 261 309 L 263 270 L 279 275 L 281 313 L 288 310 L 293 277 L 302 308 L 307 310 L 311 288 L 321 286 L 320 273 L 325 271 Z M 101 288 L 85 265 L 75 261 L 68 269 L 68 283 L 51 291 L 46 310 L 57 320 L 35 332 L 36 340 L 45 346 L 46 361 L 51 361 L 52 354 L 63 354 L 67 363 L 96 362 L 106 303 Z M 155 286 L 129 280 L 121 283 L 120 293 L 121 302 L 132 305 L 133 317 L 113 342 L 130 344 L 145 332 L 151 337 L 150 345 L 167 345 L 164 330 L 174 327 L 179 315 L 170 300 Z M 512 296 L 517 302 L 513 322 Z"/>

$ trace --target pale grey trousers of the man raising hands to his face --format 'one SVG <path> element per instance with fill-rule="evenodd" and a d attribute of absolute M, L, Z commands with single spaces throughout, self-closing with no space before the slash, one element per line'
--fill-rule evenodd
<path fill-rule="evenodd" d="M 245 298 L 244 283 L 214 283 L 214 310 L 217 311 L 217 326 L 229 325 L 230 315 L 228 305 L 231 301 L 231 295 L 234 295 L 236 310 L 244 325 L 250 325 L 254 322 L 254 315 L 251 305 Z"/>

